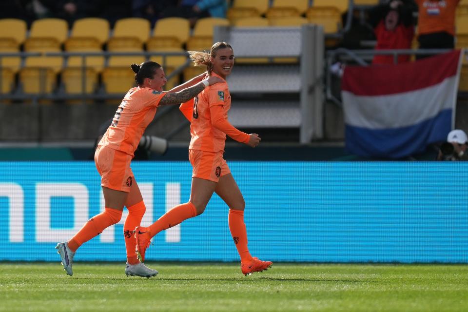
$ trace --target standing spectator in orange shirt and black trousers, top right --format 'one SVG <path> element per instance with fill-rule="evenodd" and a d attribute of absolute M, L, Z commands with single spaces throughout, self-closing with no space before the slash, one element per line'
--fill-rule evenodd
<path fill-rule="evenodd" d="M 460 0 L 415 0 L 418 5 L 420 49 L 453 49 L 455 9 Z M 429 55 L 416 56 L 417 59 Z"/>

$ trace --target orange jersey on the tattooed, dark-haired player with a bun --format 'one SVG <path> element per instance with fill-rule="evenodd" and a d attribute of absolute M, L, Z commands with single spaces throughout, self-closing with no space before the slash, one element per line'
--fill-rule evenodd
<path fill-rule="evenodd" d="M 156 107 L 165 94 L 151 88 L 130 89 L 98 145 L 134 156 L 141 136 L 155 117 Z"/>

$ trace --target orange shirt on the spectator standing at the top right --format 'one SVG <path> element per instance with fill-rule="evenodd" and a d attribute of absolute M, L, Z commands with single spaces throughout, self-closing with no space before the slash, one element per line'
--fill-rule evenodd
<path fill-rule="evenodd" d="M 419 8 L 418 33 L 455 34 L 455 9 L 460 0 L 416 0 Z"/>

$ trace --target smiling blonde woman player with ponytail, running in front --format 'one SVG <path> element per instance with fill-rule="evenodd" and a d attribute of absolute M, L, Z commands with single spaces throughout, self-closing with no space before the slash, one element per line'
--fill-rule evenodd
<path fill-rule="evenodd" d="M 225 79 L 234 66 L 233 48 L 226 42 L 217 42 L 210 53 L 190 51 L 189 54 L 196 66 L 206 65 L 208 75 L 221 78 L 222 82 L 206 88 L 193 100 L 180 106 L 182 113 L 191 122 L 189 159 L 193 166 L 193 175 L 190 199 L 189 202 L 172 208 L 151 226 L 135 229 L 138 258 L 144 261 L 145 251 L 153 236 L 202 214 L 211 196 L 216 193 L 230 208 L 229 229 L 240 255 L 242 273 L 250 275 L 262 272 L 270 268 L 272 262 L 253 257 L 247 248 L 244 197 L 223 159 L 226 135 L 250 147 L 260 143 L 257 134 L 249 135 L 239 131 L 227 119 L 231 108 L 231 94 Z"/>

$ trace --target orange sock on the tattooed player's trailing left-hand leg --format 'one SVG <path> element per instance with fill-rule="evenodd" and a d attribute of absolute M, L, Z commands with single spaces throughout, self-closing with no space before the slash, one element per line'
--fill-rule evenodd
<path fill-rule="evenodd" d="M 105 208 L 104 212 L 95 215 L 86 222 L 81 230 L 68 241 L 68 248 L 75 252 L 81 244 L 87 242 L 91 238 L 98 236 L 102 231 L 120 221 L 122 211 L 112 208 Z"/>

